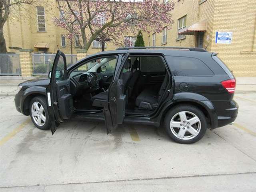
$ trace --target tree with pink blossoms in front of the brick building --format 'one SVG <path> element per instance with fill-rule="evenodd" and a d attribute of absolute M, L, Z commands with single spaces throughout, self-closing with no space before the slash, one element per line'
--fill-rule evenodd
<path fill-rule="evenodd" d="M 88 50 L 93 40 L 108 38 L 115 45 L 124 44 L 128 33 L 161 32 L 170 28 L 174 2 L 162 0 L 57 0 L 60 17 L 53 18 L 56 26 L 67 31 L 80 48 Z"/>

